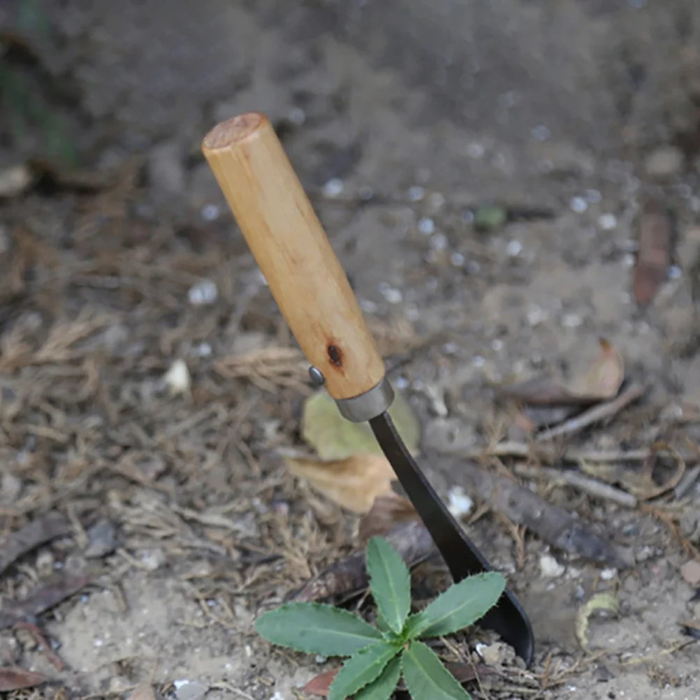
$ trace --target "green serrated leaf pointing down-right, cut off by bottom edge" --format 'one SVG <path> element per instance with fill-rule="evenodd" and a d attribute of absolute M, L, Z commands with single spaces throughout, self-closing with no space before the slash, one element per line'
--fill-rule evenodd
<path fill-rule="evenodd" d="M 423 642 L 412 641 L 401 654 L 401 668 L 413 700 L 471 700 L 442 661 Z"/>

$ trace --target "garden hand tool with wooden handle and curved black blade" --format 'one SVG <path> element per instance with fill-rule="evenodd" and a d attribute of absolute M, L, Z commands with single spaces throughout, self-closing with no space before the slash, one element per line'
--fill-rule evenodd
<path fill-rule="evenodd" d="M 325 386 L 346 419 L 369 421 L 455 582 L 491 570 L 391 421 L 394 393 L 384 360 L 272 124 L 262 113 L 235 116 L 204 137 L 202 151 L 311 364 L 312 383 Z M 503 592 L 479 625 L 496 631 L 531 664 L 533 631 L 511 591 Z"/>

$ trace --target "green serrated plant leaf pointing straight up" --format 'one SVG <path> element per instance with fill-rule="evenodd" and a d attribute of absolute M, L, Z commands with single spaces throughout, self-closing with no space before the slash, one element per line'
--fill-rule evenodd
<path fill-rule="evenodd" d="M 370 590 L 383 622 L 400 634 L 411 611 L 411 575 L 400 554 L 381 537 L 367 543 Z"/>

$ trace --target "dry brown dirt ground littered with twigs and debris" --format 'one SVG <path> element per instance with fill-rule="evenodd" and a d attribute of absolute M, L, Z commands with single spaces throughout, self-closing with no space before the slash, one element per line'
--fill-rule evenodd
<path fill-rule="evenodd" d="M 40 116 L 64 117 L 62 139 L 90 173 L 43 169 L 0 198 L 2 532 L 50 511 L 70 524 L 0 573 L 0 612 L 56 575 L 89 577 L 29 619 L 62 670 L 26 631 L 0 631 L 3 666 L 50 678 L 13 697 L 126 697 L 153 678 L 178 700 L 292 700 L 334 663 L 272 649 L 252 627 L 357 546 L 357 517 L 277 451 L 300 443 L 306 363 L 200 153 L 241 111 L 278 128 L 421 419 L 421 463 L 443 496 L 465 454 L 513 435 L 493 384 L 576 376 L 598 337 L 646 391 L 568 444 L 664 441 L 692 469 L 694 1 L 47 0 L 3 3 L 0 26 L 14 47 L 0 73 L 2 173 L 45 155 L 58 128 L 34 118 L 18 131 L 8 71 L 45 101 Z M 650 196 L 673 210 L 675 235 L 668 275 L 640 308 Z M 475 212 L 494 203 L 507 221 L 479 230 Z M 179 361 L 190 387 L 173 395 L 165 376 Z M 698 556 L 700 488 L 629 508 L 529 483 L 635 563 L 573 560 L 532 533 L 519 553 L 521 531 L 496 512 L 469 526 L 537 643 L 531 677 L 470 692 L 699 699 L 698 583 L 680 568 Z M 554 577 L 547 553 L 563 566 Z M 591 619 L 584 653 L 575 613 L 602 590 L 616 591 L 619 615 Z"/>

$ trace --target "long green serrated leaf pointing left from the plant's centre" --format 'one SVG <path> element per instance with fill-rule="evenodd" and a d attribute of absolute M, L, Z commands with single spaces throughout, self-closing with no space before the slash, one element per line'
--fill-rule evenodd
<path fill-rule="evenodd" d="M 378 629 L 357 615 L 321 603 L 280 605 L 258 617 L 255 631 L 283 647 L 340 657 L 384 639 Z"/>

